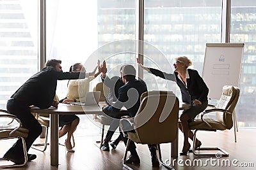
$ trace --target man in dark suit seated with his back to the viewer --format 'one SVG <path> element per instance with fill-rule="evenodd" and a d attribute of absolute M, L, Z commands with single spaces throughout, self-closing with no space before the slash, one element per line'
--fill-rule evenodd
<path fill-rule="evenodd" d="M 116 103 L 102 108 L 104 113 L 116 118 L 119 117 L 118 115 L 120 114 L 122 106 L 125 106 L 125 108 L 127 108 L 127 115 L 135 117 L 138 109 L 140 108 L 141 94 L 143 94 L 143 92 L 147 92 L 147 85 L 145 82 L 143 80 L 136 80 L 135 76 L 136 69 L 132 65 L 125 65 L 122 67 L 122 80 L 125 85 L 120 87 L 118 90 L 118 99 Z M 126 145 L 127 138 L 122 136 L 122 139 Z M 156 145 L 148 145 L 148 147 L 152 156 L 152 165 L 159 166 L 159 161 L 156 157 Z M 140 157 L 136 152 L 136 145 L 133 141 L 131 141 L 129 151 L 131 155 L 126 162 L 128 164 L 140 164 Z"/>

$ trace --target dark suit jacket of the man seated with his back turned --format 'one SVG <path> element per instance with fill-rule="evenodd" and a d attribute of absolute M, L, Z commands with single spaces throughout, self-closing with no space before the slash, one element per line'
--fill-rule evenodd
<path fill-rule="evenodd" d="M 125 106 L 128 115 L 134 117 L 140 108 L 140 97 L 143 92 L 147 92 L 147 85 L 143 80 L 128 81 L 118 90 L 116 103 L 113 106 L 107 106 L 104 111 L 106 113 L 118 112 L 122 106 Z"/>

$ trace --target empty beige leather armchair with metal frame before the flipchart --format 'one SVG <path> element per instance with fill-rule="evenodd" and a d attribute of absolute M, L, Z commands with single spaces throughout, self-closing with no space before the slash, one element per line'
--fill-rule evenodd
<path fill-rule="evenodd" d="M 196 144 L 196 132 L 197 131 L 224 131 L 226 129 L 231 129 L 233 126 L 232 113 L 235 110 L 237 101 L 239 99 L 240 90 L 237 87 L 231 85 L 225 85 L 223 87 L 223 92 L 218 101 L 218 104 L 209 110 L 205 110 L 201 114 L 201 118 L 195 118 L 195 121 L 189 123 L 189 128 L 195 130 L 193 132 L 193 153 L 200 157 L 216 157 L 217 153 L 200 153 L 195 148 Z M 206 117 L 209 113 L 215 113 L 211 117 Z M 229 155 L 225 150 L 215 147 L 200 148 L 201 150 L 216 150 L 221 151 L 221 156 L 227 157 Z"/>

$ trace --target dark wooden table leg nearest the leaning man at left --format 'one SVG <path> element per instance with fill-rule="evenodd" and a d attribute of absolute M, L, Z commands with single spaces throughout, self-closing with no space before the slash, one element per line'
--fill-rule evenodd
<path fill-rule="evenodd" d="M 59 115 L 51 114 L 51 166 L 59 164 Z"/>

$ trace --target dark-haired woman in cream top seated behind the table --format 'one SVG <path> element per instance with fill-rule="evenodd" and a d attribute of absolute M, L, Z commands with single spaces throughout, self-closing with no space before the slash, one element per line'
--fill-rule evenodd
<path fill-rule="evenodd" d="M 93 70 L 92 73 L 88 73 L 88 76 L 84 79 L 69 80 L 68 81 L 68 92 L 65 99 L 60 100 L 60 103 L 70 103 L 70 102 L 80 102 L 84 100 L 86 92 L 90 89 L 90 81 L 100 74 L 100 61 L 97 62 L 97 67 Z M 96 69 L 99 68 L 99 72 L 95 74 Z M 70 72 L 86 72 L 83 67 L 83 64 L 76 63 L 70 67 Z M 71 136 L 76 131 L 77 125 L 79 124 L 79 117 L 76 115 L 60 115 L 59 125 L 61 129 L 59 131 L 59 138 L 67 134 L 67 139 L 65 141 L 65 146 L 68 152 L 74 152 L 71 145 Z"/>

